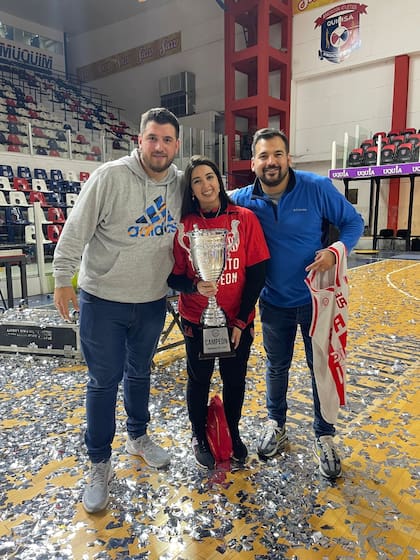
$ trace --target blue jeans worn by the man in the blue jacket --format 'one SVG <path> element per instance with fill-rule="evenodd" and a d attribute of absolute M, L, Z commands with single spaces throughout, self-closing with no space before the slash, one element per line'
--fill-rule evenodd
<path fill-rule="evenodd" d="M 266 402 L 269 418 L 276 420 L 279 426 L 286 422 L 289 369 L 293 358 L 297 326 L 300 325 L 306 363 L 312 377 L 315 436 L 334 435 L 334 425 L 329 424 L 322 417 L 313 373 L 312 341 L 309 336 L 312 304 L 300 307 L 274 307 L 260 299 L 260 314 L 264 348 L 267 354 Z"/>

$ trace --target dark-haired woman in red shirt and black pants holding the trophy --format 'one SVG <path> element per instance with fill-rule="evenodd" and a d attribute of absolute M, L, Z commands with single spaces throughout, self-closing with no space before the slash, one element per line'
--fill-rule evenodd
<path fill-rule="evenodd" d="M 206 419 L 215 358 L 200 359 L 203 352 L 201 315 L 208 298 L 217 294 L 235 352 L 232 357 L 219 358 L 223 403 L 232 437 L 233 458 L 244 462 L 248 450 L 239 435 L 239 420 L 254 337 L 255 304 L 264 285 L 266 261 L 270 255 L 258 219 L 248 209 L 230 201 L 214 162 L 204 156 L 193 156 L 185 170 L 184 181 L 181 225 L 174 242 L 175 264 L 168 284 L 180 292 L 178 308 L 187 352 L 187 405 L 193 451 L 197 463 L 211 469 L 215 460 L 206 438 Z M 201 280 L 194 269 L 188 237 L 194 229 L 227 231 L 229 249 L 218 282 Z"/>

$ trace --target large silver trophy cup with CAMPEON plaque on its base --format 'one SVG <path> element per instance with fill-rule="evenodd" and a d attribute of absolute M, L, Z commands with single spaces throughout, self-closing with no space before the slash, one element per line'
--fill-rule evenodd
<path fill-rule="evenodd" d="M 182 229 L 182 228 L 181 228 Z M 223 274 L 228 254 L 228 231 L 225 229 L 194 229 L 186 234 L 179 232 L 181 246 L 188 252 L 190 261 L 206 282 L 218 282 Z M 190 247 L 185 245 L 183 237 L 190 240 Z M 219 307 L 216 296 L 208 298 L 207 307 L 201 314 L 203 326 L 203 352 L 200 358 L 234 356 L 227 329 L 225 312 Z"/>

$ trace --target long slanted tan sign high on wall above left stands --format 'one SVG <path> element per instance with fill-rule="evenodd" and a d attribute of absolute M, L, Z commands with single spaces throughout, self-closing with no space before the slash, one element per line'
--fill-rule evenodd
<path fill-rule="evenodd" d="M 77 69 L 77 76 L 82 81 L 97 80 L 179 52 L 181 32 L 177 31 L 151 43 L 82 66 Z"/>

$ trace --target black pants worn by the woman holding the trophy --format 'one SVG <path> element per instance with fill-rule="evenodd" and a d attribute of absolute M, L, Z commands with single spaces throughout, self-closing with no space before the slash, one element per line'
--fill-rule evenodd
<path fill-rule="evenodd" d="M 215 359 L 199 359 L 202 351 L 202 330 L 182 319 L 182 327 L 187 352 L 187 406 L 193 434 L 204 439 L 206 433 L 207 404 L 209 400 L 210 380 L 214 370 Z M 232 358 L 219 358 L 220 376 L 223 381 L 222 399 L 226 420 L 232 437 L 239 435 L 238 424 L 241 419 L 242 404 L 245 395 L 245 377 L 254 325 L 248 325 L 243 331 L 241 341 Z M 229 334 L 230 334 L 229 330 Z"/>

